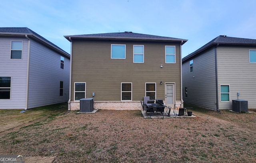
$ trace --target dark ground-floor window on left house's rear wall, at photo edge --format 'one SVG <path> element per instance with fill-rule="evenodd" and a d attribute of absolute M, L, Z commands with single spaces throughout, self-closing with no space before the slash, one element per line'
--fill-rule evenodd
<path fill-rule="evenodd" d="M 0 99 L 11 98 L 11 77 L 0 77 Z"/>

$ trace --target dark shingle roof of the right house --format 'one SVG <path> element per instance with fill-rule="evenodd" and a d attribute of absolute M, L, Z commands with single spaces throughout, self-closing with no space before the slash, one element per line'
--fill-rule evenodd
<path fill-rule="evenodd" d="M 226 35 L 220 35 L 213 39 L 212 41 L 206 43 L 204 46 L 200 47 L 190 55 L 187 55 L 182 59 L 185 61 L 186 59 L 196 55 L 200 51 L 211 47 L 212 45 L 256 45 L 256 39 L 246 39 L 246 38 L 238 38 L 238 37 L 227 37 Z"/>

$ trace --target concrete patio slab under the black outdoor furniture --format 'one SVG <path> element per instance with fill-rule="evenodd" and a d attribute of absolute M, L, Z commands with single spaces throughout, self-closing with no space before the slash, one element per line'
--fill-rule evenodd
<path fill-rule="evenodd" d="M 168 114 L 165 113 L 166 110 L 164 110 L 164 118 L 185 118 L 185 117 L 188 117 L 188 118 L 195 118 L 196 116 L 193 115 L 193 112 L 192 112 L 192 116 L 186 116 L 186 115 L 183 115 L 183 116 L 178 116 L 178 111 L 176 110 L 176 114 L 174 114 L 174 110 L 172 109 L 171 112 L 170 112 L 170 116 L 168 116 Z M 141 110 L 141 113 L 142 115 L 144 116 L 144 118 L 150 118 L 150 112 L 146 112 L 144 110 Z M 152 115 L 151 115 L 151 118 L 163 118 L 162 114 L 160 113 L 156 113 L 154 112 Z"/>

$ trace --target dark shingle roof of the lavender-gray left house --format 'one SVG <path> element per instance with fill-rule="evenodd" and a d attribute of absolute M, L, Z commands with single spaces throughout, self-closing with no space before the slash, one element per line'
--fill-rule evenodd
<path fill-rule="evenodd" d="M 69 55 L 66 51 L 55 45 L 54 43 L 48 41 L 38 33 L 32 31 L 28 27 L 0 27 L 0 35 L 32 35 L 34 37 L 38 37 L 38 39 L 41 39 L 41 41 L 45 41 L 50 46 L 54 47 L 55 49 L 58 49 L 62 53 L 65 53 L 66 55 Z M 70 56 L 70 55 L 69 55 Z"/>

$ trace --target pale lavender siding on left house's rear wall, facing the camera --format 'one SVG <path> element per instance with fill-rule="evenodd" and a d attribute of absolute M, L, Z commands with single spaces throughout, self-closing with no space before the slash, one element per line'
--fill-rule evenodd
<path fill-rule="evenodd" d="M 11 41 L 23 41 L 22 59 L 10 59 Z M 0 77 L 11 77 L 11 99 L 0 99 L 0 109 L 24 109 L 28 40 L 25 37 L 0 37 L 0 47 Z"/>

